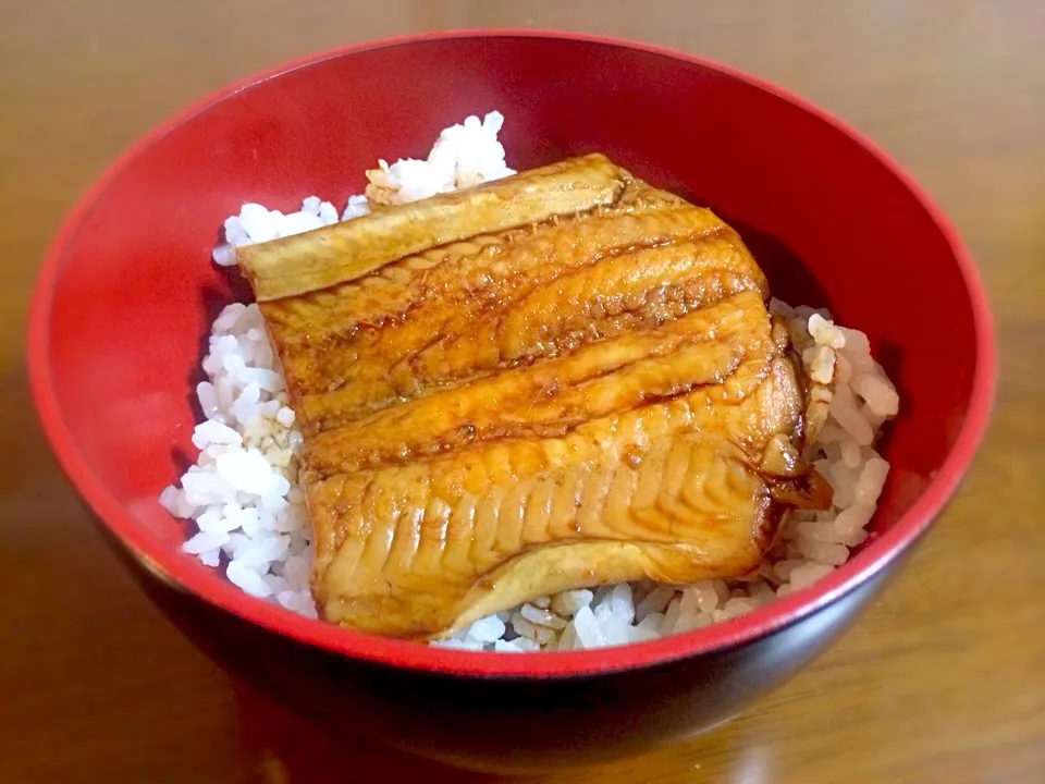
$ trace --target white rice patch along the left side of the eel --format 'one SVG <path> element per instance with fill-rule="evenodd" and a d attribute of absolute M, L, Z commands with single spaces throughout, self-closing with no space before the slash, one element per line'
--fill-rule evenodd
<path fill-rule="evenodd" d="M 279 363 L 257 305 L 228 306 L 196 388 L 206 419 L 196 426 L 196 465 L 160 503 L 198 530 L 183 549 L 256 597 L 312 617 L 312 548 L 297 451 Z"/>

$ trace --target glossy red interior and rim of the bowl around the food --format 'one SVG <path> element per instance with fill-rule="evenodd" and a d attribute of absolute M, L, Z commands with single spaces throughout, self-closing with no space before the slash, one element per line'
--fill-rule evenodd
<path fill-rule="evenodd" d="M 379 640 L 251 599 L 183 555 L 157 503 L 194 458 L 209 324 L 248 290 L 209 260 L 245 200 L 343 205 L 378 158 L 423 157 L 440 128 L 499 109 L 509 164 L 601 150 L 715 209 L 774 293 L 864 330 L 901 392 L 876 536 L 846 567 L 772 608 L 602 651 L 506 657 Z M 994 371 L 983 292 L 952 232 L 907 177 L 837 122 L 713 64 L 555 35 L 431 36 L 359 47 L 208 99 L 113 167 L 41 273 L 29 362 L 47 432 L 77 488 L 174 581 L 300 639 L 391 663 L 550 675 L 632 666 L 787 622 L 909 543 L 966 469 Z"/>

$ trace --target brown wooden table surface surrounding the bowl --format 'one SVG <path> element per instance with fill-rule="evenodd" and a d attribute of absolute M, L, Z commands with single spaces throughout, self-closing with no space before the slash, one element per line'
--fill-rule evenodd
<path fill-rule="evenodd" d="M 995 305 L 994 426 L 960 498 L 857 627 L 734 724 L 545 782 L 1045 781 L 1045 5 L 1038 0 L 78 0 L 0 23 L 0 781 L 484 781 L 332 738 L 220 671 L 146 599 L 45 445 L 29 286 L 102 166 L 200 94 L 431 28 L 641 38 L 785 85 L 890 150 Z M 492 781 L 492 780 L 490 780 Z M 499 780 L 506 781 L 506 780 Z"/>

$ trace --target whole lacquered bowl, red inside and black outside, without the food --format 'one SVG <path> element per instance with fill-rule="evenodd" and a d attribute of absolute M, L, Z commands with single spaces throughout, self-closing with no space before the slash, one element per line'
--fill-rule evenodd
<path fill-rule="evenodd" d="M 180 552 L 185 527 L 157 497 L 194 455 L 210 321 L 249 296 L 210 262 L 224 217 L 244 200 L 284 210 L 308 194 L 343 201 L 379 157 L 423 157 L 440 128 L 491 109 L 507 118 L 502 140 L 516 168 L 603 151 L 730 222 L 777 296 L 827 306 L 868 332 L 902 412 L 884 445 L 893 470 L 873 536 L 848 563 L 700 630 L 513 656 L 310 621 Z M 214 644 L 216 656 L 325 721 L 499 770 L 582 763 L 706 730 L 806 664 L 956 491 L 995 373 L 967 250 L 911 177 L 855 131 L 696 57 L 511 30 L 328 52 L 159 125 L 61 228 L 33 296 L 28 364 L 66 474 L 113 540 L 173 588 L 152 585 L 202 645 L 233 639 Z"/>

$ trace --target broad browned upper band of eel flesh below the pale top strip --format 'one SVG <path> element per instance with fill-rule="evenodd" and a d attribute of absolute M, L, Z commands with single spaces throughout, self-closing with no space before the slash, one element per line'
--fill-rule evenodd
<path fill-rule="evenodd" d="M 302 427 L 328 429 L 433 384 L 764 290 L 710 211 L 638 187 L 627 209 L 437 249 L 380 284 L 262 303 Z"/>

